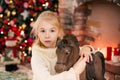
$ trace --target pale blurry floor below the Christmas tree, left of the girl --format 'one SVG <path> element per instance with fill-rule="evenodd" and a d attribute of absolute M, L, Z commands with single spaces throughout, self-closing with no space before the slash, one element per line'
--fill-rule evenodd
<path fill-rule="evenodd" d="M 4 65 L 0 64 L 0 74 L 2 74 L 0 80 L 32 80 L 30 64 L 18 65 L 18 67 L 17 71 L 7 72 Z"/>

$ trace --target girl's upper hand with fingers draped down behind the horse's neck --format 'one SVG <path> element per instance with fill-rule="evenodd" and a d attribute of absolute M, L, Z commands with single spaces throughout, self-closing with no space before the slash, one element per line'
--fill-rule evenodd
<path fill-rule="evenodd" d="M 92 46 L 89 45 L 85 45 L 81 48 L 80 50 L 80 56 L 81 57 L 86 57 L 87 58 L 87 62 L 89 62 L 89 60 L 93 60 L 91 53 L 94 51 Z"/>

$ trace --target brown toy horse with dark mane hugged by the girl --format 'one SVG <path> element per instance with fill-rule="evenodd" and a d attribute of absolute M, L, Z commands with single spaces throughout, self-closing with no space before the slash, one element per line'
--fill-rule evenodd
<path fill-rule="evenodd" d="M 76 37 L 72 34 L 66 34 L 57 45 L 56 72 L 69 70 L 79 59 L 79 45 Z M 80 80 L 105 80 L 105 61 L 101 52 L 92 54 L 93 61 L 87 63 L 86 69 L 80 75 Z"/>

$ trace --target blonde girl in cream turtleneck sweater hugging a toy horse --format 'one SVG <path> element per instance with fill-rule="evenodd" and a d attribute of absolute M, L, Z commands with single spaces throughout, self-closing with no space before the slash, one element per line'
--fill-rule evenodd
<path fill-rule="evenodd" d="M 84 46 L 81 50 L 82 55 L 87 54 L 85 57 L 81 56 L 70 70 L 58 74 L 54 69 L 57 61 L 56 43 L 64 35 L 58 15 L 51 11 L 42 12 L 33 30 L 36 37 L 31 58 L 33 80 L 79 80 L 89 60 L 90 46 Z"/>

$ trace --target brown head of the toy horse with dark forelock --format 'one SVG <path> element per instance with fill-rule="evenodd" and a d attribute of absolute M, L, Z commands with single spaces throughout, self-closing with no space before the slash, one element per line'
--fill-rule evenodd
<path fill-rule="evenodd" d="M 79 58 L 79 45 L 75 36 L 66 34 L 57 45 L 56 72 L 68 70 Z"/>

